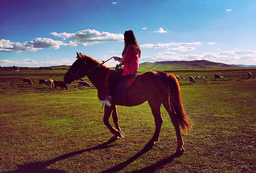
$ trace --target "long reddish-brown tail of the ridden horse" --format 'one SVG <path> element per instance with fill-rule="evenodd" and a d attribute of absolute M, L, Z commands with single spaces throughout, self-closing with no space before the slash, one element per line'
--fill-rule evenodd
<path fill-rule="evenodd" d="M 179 81 L 174 75 L 168 75 L 169 81 L 169 106 L 171 111 L 176 114 L 179 126 L 184 134 L 187 134 L 188 130 L 191 130 L 191 122 L 189 117 L 185 113 L 183 104 L 181 101 L 181 90 L 179 87 Z"/>

